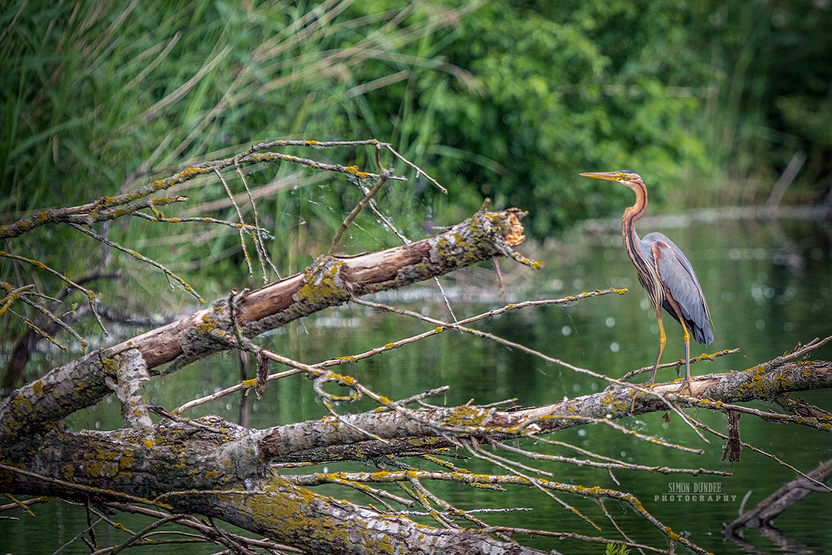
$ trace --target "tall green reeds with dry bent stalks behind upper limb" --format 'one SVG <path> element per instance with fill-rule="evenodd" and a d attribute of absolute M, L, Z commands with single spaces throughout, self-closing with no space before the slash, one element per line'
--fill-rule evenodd
<path fill-rule="evenodd" d="M 445 82 L 476 93 L 475 80 L 440 57 L 478 2 L 16 2 L 2 14 L 0 42 L 0 212 L 2 224 L 52 206 L 77 206 L 130 191 L 194 161 L 231 156 L 275 138 L 392 141 L 423 158 L 433 141 L 430 109 L 418 98 Z M 19 11 L 19 15 L 17 12 Z M 420 114 L 416 121 L 414 113 Z M 285 149 L 288 154 L 374 170 L 369 149 Z M 392 159 L 383 156 L 385 164 Z M 302 166 L 244 168 L 260 224 L 275 239 L 270 255 L 283 275 L 307 265 L 361 196 L 349 180 Z M 402 166 L 399 171 L 404 171 Z M 423 183 L 391 181 L 382 209 L 421 237 Z M 226 176 L 235 194 L 244 191 Z M 216 176 L 167 191 L 186 206 L 166 216 L 236 221 Z M 249 210 L 245 201 L 240 206 Z M 250 212 L 244 214 L 250 217 Z M 374 216 L 362 216 L 347 250 L 399 242 Z M 257 286 L 246 275 L 235 230 L 128 219 L 96 231 L 167 265 L 207 299 Z M 348 238 L 349 239 L 349 238 Z M 358 241 L 358 243 L 356 243 Z M 3 250 L 77 278 L 122 270 L 98 282 L 106 305 L 126 313 L 186 310 L 191 298 L 156 271 L 62 226 L 45 226 Z M 62 283 L 36 268 L 0 259 L 2 280 L 36 283 L 55 295 Z M 270 275 L 275 279 L 275 275 Z M 72 311 L 72 295 L 58 313 Z M 22 307 L 21 312 L 26 312 Z M 34 319 L 37 314 L 29 314 Z M 9 349 L 24 326 L 2 315 Z"/>

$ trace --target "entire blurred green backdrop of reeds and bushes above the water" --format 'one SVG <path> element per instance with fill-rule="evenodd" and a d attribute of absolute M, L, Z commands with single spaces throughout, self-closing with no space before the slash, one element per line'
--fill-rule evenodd
<path fill-rule="evenodd" d="M 580 171 L 639 171 L 657 210 L 761 200 L 799 150 L 806 170 L 786 201 L 818 201 L 832 175 L 827 4 L 17 0 L 0 14 L 2 223 L 280 137 L 392 142 L 450 191 L 412 175 L 382 191 L 380 206 L 413 238 L 470 215 L 485 196 L 531 211 L 537 237 L 631 201 Z M 373 166 L 370 151 L 287 153 Z M 289 272 L 326 249 L 360 197 L 349 181 L 286 164 L 248 179 L 275 186 L 259 214 Z M 189 207 L 217 201 L 191 215 L 236 219 L 215 178 L 171 192 Z M 355 224 L 347 248 L 398 241 L 374 216 Z M 104 231 L 186 280 L 240 285 L 234 230 L 131 221 Z M 104 258 L 62 228 L 4 249 L 70 277 Z M 76 252 L 85 255 L 67 256 Z M 0 275 L 17 273 L 18 285 L 37 275 L 42 292 L 61 287 L 30 272 L 0 260 Z M 181 304 L 179 294 L 164 302 Z M 141 295 L 131 302 L 144 308 Z"/>

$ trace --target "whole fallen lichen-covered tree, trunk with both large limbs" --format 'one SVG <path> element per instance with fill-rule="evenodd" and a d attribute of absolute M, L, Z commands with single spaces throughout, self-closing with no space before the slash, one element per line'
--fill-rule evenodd
<path fill-rule="evenodd" d="M 629 539 L 492 527 L 479 521 L 473 511 L 467 513 L 442 499 L 430 497 L 433 494 L 422 488 L 420 481 L 443 480 L 478 489 L 504 490 L 520 486 L 598 502 L 615 499 L 645 518 L 671 545 L 682 543 L 695 553 L 705 553 L 646 513 L 631 493 L 559 483 L 553 473 L 534 477 L 511 471 L 503 475 L 478 474 L 456 468 L 445 460 L 471 456 L 508 468 L 500 459 L 489 458 L 480 446 L 491 444 L 495 450 L 514 449 L 522 453 L 519 444 L 513 447 L 500 442 L 510 437 L 621 418 L 633 406 L 633 389 L 622 388 L 513 411 L 469 405 L 405 409 L 404 405 L 414 398 L 394 403 L 375 395 L 373 399 L 380 406 L 374 411 L 336 414 L 332 410 L 333 416 L 325 419 L 269 429 L 247 429 L 219 417 L 187 420 L 181 418 L 178 409 L 176 414 L 171 414 L 161 408 L 151 409 L 163 414 L 166 420 L 153 424 L 142 402 L 142 384 L 151 374 L 171 374 L 209 354 L 242 348 L 245 338 L 317 310 L 341 305 L 360 295 L 442 275 L 496 255 L 508 255 L 532 264 L 511 249 L 521 240 L 518 211 L 480 212 L 442 234 L 411 245 L 353 257 L 322 256 L 299 275 L 260 290 L 235 292 L 185 319 L 55 369 L 0 403 L 0 491 L 57 496 L 84 503 L 92 500 L 96 504 L 118 505 L 127 512 L 164 512 L 166 516 L 157 517 L 160 524 L 177 522 L 198 527 L 204 523 L 196 520 L 196 516 L 218 518 L 305 553 L 542 553 L 515 543 L 510 536 L 513 533 L 643 547 Z M 431 322 L 430 325 L 437 327 L 429 333 L 462 329 L 457 323 Z M 258 359 L 268 353 L 256 346 L 245 348 L 255 351 Z M 319 379 L 321 384 L 334 382 L 354 392 L 363 388 L 358 380 L 329 372 L 324 364 L 313 367 L 268 354 L 269 358 L 275 357 L 314 376 L 316 387 L 320 385 Z M 668 400 L 672 400 L 681 406 L 745 410 L 760 418 L 826 429 L 829 419 L 824 415 L 798 418 L 728 404 L 750 399 L 780 399 L 791 391 L 832 385 L 832 364 L 791 360 L 799 355 L 780 357 L 743 372 L 699 376 L 691 383 L 692 398 L 676 395 L 661 399 L 656 394 L 670 393 L 674 386 L 657 384 L 656 394 L 638 395 L 636 412 L 666 410 Z M 161 365 L 166 363 L 171 364 L 162 369 Z M 327 398 L 328 394 L 320 389 L 316 391 L 324 403 L 328 402 L 326 399 L 335 399 Z M 76 433 L 63 424 L 67 415 L 96 404 L 113 392 L 118 395 L 124 419 L 132 428 Z M 372 392 L 367 390 L 366 394 L 369 393 Z M 421 399 L 418 395 L 416 398 Z M 443 459 L 433 457 L 436 454 L 444 455 Z M 528 456 L 538 454 L 546 456 L 527 453 Z M 402 460 L 419 456 L 441 468 L 424 471 L 409 467 Z M 324 470 L 311 475 L 277 472 L 277 468 L 284 466 L 344 460 L 374 463 L 377 471 L 329 473 Z M 607 460 L 577 463 L 605 468 L 612 464 L 616 468 L 656 473 L 725 474 L 705 468 L 654 468 Z M 392 505 L 388 511 L 362 507 L 308 489 L 329 483 L 354 488 L 381 499 L 382 503 L 389 497 L 405 508 L 413 507 L 413 500 L 423 508 L 430 508 L 432 500 L 445 513 L 430 513 L 430 516 L 447 528 L 419 524 Z M 384 490 L 384 484 L 404 489 L 409 498 Z M 463 518 L 481 529 L 462 528 L 456 520 Z M 235 542 L 264 542 L 235 539 L 219 528 L 201 533 L 215 543 L 242 553 L 245 549 L 235 548 Z M 275 548 L 275 544 L 265 548 Z"/>

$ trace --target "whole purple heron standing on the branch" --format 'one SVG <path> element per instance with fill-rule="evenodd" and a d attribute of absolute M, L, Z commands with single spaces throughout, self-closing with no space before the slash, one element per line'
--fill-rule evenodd
<path fill-rule="evenodd" d="M 627 255 L 636 265 L 638 280 L 647 291 L 659 320 L 659 352 L 656 354 L 649 385 L 652 386 L 656 377 L 656 367 L 667 341 L 661 321 L 661 310 L 664 309 L 681 324 L 685 332 L 685 381 L 680 389 L 684 389 L 685 385 L 690 389 L 690 335 L 699 344 L 711 344 L 714 340 L 708 323 L 708 305 L 699 280 L 696 279 L 696 272 L 679 247 L 665 235 L 651 233 L 641 239 L 636 234 L 636 220 L 641 218 L 647 207 L 647 188 L 638 174 L 633 171 L 610 171 L 581 175 L 616 181 L 636 193 L 636 204 L 627 208 L 622 216 L 622 235 Z"/>

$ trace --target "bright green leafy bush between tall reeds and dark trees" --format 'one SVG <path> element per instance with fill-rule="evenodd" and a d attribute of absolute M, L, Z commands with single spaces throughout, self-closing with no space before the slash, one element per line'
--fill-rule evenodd
<path fill-rule="evenodd" d="M 452 191 L 473 183 L 498 206 L 531 210 L 538 236 L 610 210 L 609 188 L 579 171 L 632 167 L 671 184 L 715 173 L 696 97 L 710 60 L 678 9 L 492 2 L 474 12 L 443 52 L 482 89 L 444 78 L 421 102 L 438 113 L 436 173 Z"/>

